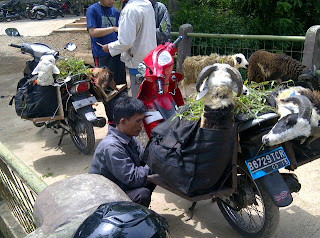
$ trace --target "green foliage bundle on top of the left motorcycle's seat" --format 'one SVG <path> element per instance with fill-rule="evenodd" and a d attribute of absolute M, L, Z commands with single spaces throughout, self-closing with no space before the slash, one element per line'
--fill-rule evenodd
<path fill-rule="evenodd" d="M 85 65 L 84 60 L 76 57 L 60 59 L 57 61 L 57 67 L 60 70 L 60 78 L 65 78 L 71 75 L 88 74 L 89 68 Z"/>

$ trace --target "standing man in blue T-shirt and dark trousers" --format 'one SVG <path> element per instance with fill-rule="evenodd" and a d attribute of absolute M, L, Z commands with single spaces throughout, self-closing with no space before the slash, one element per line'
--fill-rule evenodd
<path fill-rule="evenodd" d="M 112 57 L 103 51 L 101 45 L 118 39 L 120 12 L 113 7 L 115 0 L 100 0 L 92 4 L 86 13 L 87 29 L 91 39 L 91 50 L 96 67 L 108 67 L 114 74 L 116 84 L 126 84 L 125 65 L 120 56 Z M 109 123 L 113 123 L 113 104 L 116 98 L 104 102 Z"/>

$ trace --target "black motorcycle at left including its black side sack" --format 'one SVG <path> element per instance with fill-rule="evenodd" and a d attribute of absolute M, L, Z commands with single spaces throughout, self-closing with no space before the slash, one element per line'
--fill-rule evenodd
<path fill-rule="evenodd" d="M 6 29 L 9 36 L 20 36 L 15 28 Z M 11 47 L 21 49 L 21 53 L 28 53 L 33 57 L 26 63 L 24 78 L 17 86 L 15 96 L 16 112 L 21 118 L 33 121 L 37 127 L 46 126 L 55 133 L 62 129 L 62 138 L 70 134 L 72 141 L 84 154 L 90 154 L 95 147 L 93 127 L 104 127 L 106 119 L 97 117 L 92 104 L 97 102 L 95 96 L 89 93 L 91 82 L 86 75 L 71 75 L 66 78 L 54 80 L 50 86 L 37 84 L 32 71 L 44 55 L 52 55 L 59 59 L 59 52 L 42 43 L 10 44 Z M 76 45 L 68 43 L 64 49 L 73 51 Z M 12 104 L 12 100 L 11 100 Z"/>

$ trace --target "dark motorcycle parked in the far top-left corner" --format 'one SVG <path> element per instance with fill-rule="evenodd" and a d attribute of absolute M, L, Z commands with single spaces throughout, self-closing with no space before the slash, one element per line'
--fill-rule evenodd
<path fill-rule="evenodd" d="M 3 3 L 0 7 L 0 21 L 8 21 L 13 19 L 21 19 L 25 15 L 23 8 L 19 2 L 11 0 L 8 3 Z"/>

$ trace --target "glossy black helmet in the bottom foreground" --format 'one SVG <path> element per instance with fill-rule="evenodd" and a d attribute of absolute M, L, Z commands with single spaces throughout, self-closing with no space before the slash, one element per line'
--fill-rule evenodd
<path fill-rule="evenodd" d="M 133 202 L 100 205 L 73 238 L 166 238 L 168 223 L 154 211 Z"/>

